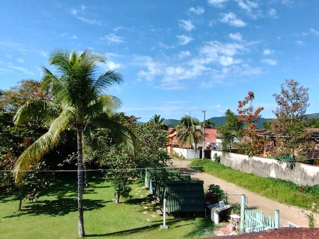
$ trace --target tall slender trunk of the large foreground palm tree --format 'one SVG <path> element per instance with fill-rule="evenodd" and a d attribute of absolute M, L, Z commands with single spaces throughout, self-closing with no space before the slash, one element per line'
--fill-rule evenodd
<path fill-rule="evenodd" d="M 78 144 L 78 228 L 79 237 L 85 236 L 83 220 L 83 158 L 82 158 L 82 125 L 77 125 Z"/>

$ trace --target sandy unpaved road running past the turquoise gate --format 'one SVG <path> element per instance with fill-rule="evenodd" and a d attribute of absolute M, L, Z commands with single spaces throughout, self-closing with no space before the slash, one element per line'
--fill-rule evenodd
<path fill-rule="evenodd" d="M 285 204 L 278 203 L 271 199 L 265 198 L 258 194 L 255 194 L 247 189 L 241 188 L 233 183 L 228 183 L 220 178 L 214 177 L 210 174 L 199 172 L 187 168 L 189 161 L 183 160 L 172 160 L 173 167 L 179 168 L 181 165 L 181 171 L 184 174 L 190 174 L 192 179 L 198 179 L 204 181 L 204 189 L 207 189 L 210 184 L 219 185 L 224 191 L 229 194 L 245 194 L 248 197 L 248 207 L 263 211 L 267 217 L 269 214 L 272 215 L 272 218 L 275 217 L 275 210 L 279 210 L 280 217 L 280 226 L 287 227 L 288 222 L 291 222 L 299 227 L 308 227 L 308 219 L 306 214 L 310 211 L 303 210 L 301 208 L 287 206 Z M 240 196 L 229 196 L 228 201 L 230 203 L 240 203 Z M 315 214 L 315 219 L 317 224 L 319 224 L 319 214 Z M 319 225 L 318 225 L 319 226 Z"/>

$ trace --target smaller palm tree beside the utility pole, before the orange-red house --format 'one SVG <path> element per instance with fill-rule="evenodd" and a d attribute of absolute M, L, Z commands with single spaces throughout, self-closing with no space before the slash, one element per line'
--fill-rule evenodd
<path fill-rule="evenodd" d="M 188 144 L 186 152 L 186 157 L 188 158 L 189 146 L 191 148 L 194 144 L 196 150 L 197 143 L 201 141 L 204 135 L 200 122 L 194 117 L 185 115 L 180 119 L 176 131 L 179 145 L 182 146 L 184 143 Z"/>

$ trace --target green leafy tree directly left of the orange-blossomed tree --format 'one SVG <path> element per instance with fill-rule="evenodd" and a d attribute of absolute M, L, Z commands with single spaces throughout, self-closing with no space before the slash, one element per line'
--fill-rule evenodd
<path fill-rule="evenodd" d="M 242 127 L 243 123 L 238 120 L 236 116 L 230 109 L 225 112 L 225 124 L 220 125 L 218 130 L 221 132 L 222 139 L 222 152 L 231 152 L 231 144 L 234 141 L 234 137 L 242 137 Z"/>

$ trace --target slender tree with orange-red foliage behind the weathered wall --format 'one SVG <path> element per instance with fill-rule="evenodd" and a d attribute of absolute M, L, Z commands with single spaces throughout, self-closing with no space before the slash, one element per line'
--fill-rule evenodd
<path fill-rule="evenodd" d="M 259 137 L 256 132 L 256 122 L 261 118 L 260 112 L 264 107 L 254 109 L 252 102 L 255 99 L 254 92 L 249 91 L 245 100 L 238 101 L 238 120 L 245 124 L 244 141 L 241 146 L 250 157 L 258 155 L 264 148 L 264 139 Z"/>

